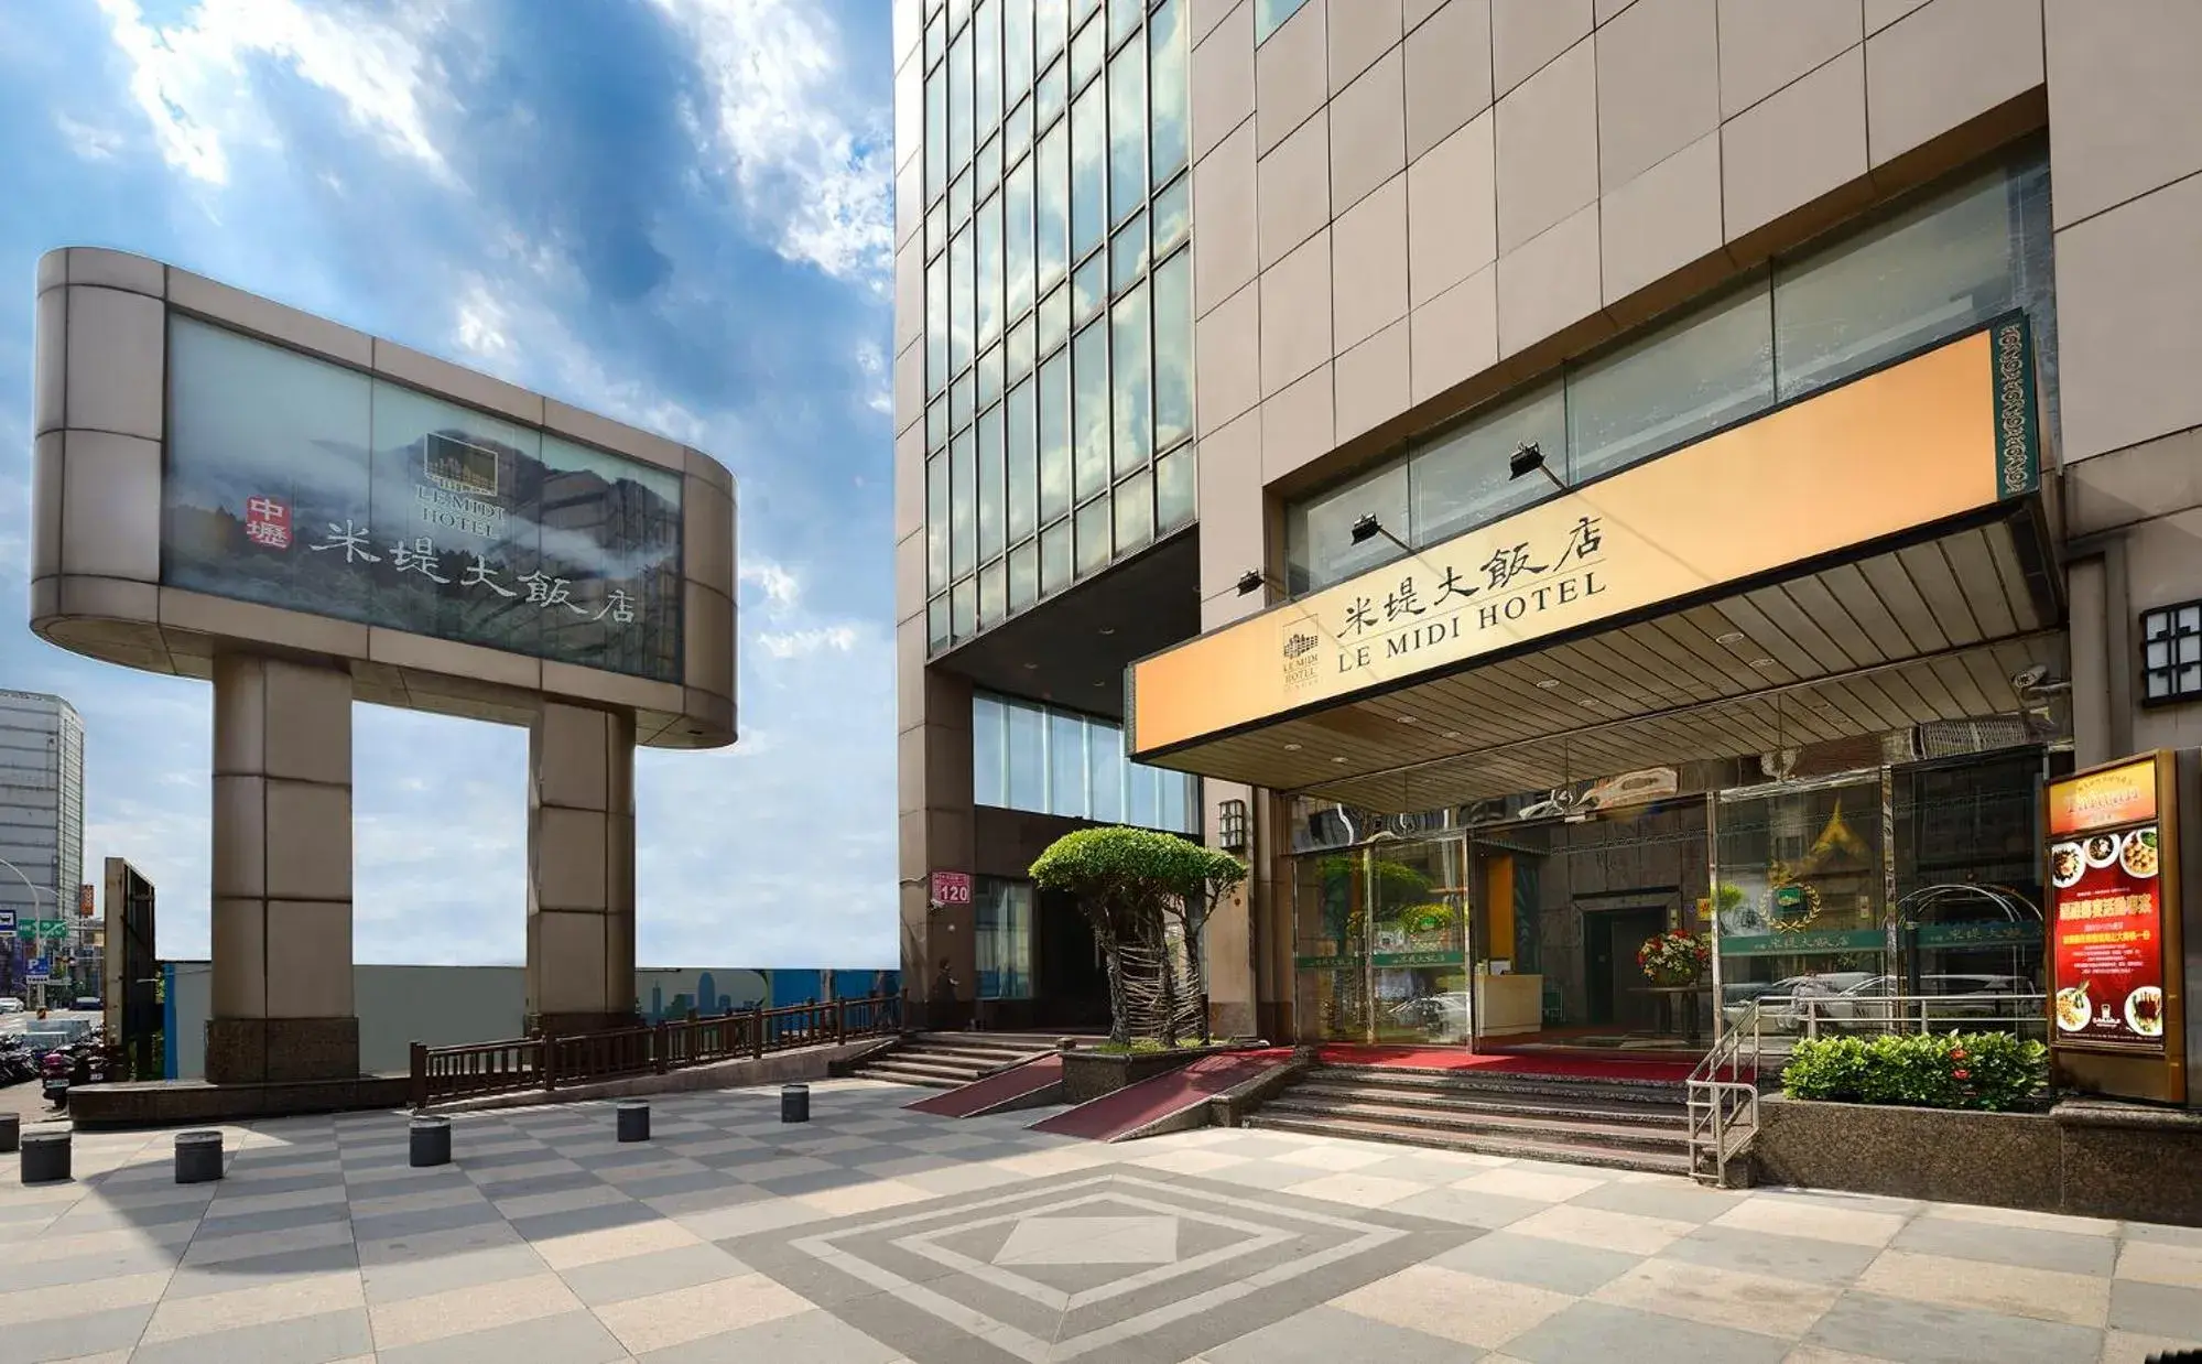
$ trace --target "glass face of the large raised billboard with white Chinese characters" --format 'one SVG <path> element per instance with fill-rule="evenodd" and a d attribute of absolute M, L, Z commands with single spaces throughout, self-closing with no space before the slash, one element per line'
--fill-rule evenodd
<path fill-rule="evenodd" d="M 680 474 L 170 317 L 161 582 L 680 681 Z"/>

